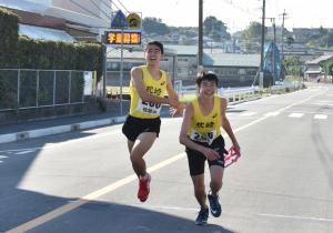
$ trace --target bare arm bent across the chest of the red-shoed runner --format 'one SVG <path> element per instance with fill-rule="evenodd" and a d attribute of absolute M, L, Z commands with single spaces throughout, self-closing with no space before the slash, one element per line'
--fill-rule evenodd
<path fill-rule="evenodd" d="M 142 70 L 140 67 L 134 67 L 131 70 L 131 81 L 138 91 L 139 97 L 144 102 L 164 103 L 169 105 L 176 105 L 178 101 L 168 98 L 161 98 L 147 92 L 145 85 L 142 82 Z"/>

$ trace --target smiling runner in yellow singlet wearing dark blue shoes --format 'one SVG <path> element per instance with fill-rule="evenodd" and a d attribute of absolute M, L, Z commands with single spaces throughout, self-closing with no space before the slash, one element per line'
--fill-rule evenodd
<path fill-rule="evenodd" d="M 221 126 L 231 139 L 235 151 L 240 153 L 240 145 L 225 115 L 226 100 L 215 94 L 218 81 L 213 72 L 199 73 L 195 81 L 199 97 L 186 105 L 180 132 L 180 143 L 186 146 L 194 195 L 201 207 L 195 220 L 196 225 L 205 224 L 209 216 L 204 185 L 205 161 L 211 173 L 211 192 L 208 195 L 211 213 L 215 217 L 221 215 L 218 193 L 222 188 L 226 153 Z"/>

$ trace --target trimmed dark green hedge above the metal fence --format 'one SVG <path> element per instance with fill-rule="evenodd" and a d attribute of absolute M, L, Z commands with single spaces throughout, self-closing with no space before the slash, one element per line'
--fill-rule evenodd
<path fill-rule="evenodd" d="M 102 75 L 100 43 L 69 43 L 19 37 L 19 17 L 0 8 L 0 68 L 95 70 Z"/>

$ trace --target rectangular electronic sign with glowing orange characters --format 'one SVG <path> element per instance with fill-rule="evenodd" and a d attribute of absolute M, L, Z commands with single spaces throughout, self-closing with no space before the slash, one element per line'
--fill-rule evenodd
<path fill-rule="evenodd" d="M 123 40 L 122 40 L 123 36 Z M 107 31 L 107 44 L 138 45 L 141 44 L 141 32 L 139 31 Z"/>

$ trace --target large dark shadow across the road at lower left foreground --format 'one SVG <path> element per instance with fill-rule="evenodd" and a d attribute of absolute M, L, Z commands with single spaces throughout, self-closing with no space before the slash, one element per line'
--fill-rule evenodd
<path fill-rule="evenodd" d="M 47 143 L 83 139 L 89 135 L 92 134 L 75 132 L 51 136 L 47 140 L 10 143 L 6 145 L 6 149 L 3 145 L 0 148 L 0 232 L 14 229 L 77 200 L 77 197 L 65 199 L 22 190 L 20 183 L 30 175 L 30 168 Z M 42 176 L 43 174 L 33 175 Z M 60 189 L 65 188 L 61 188 L 60 184 Z M 148 210 L 144 209 L 144 204 L 140 207 L 97 201 L 83 204 L 29 232 L 232 233 L 214 224 L 196 226 L 193 220 Z"/>

